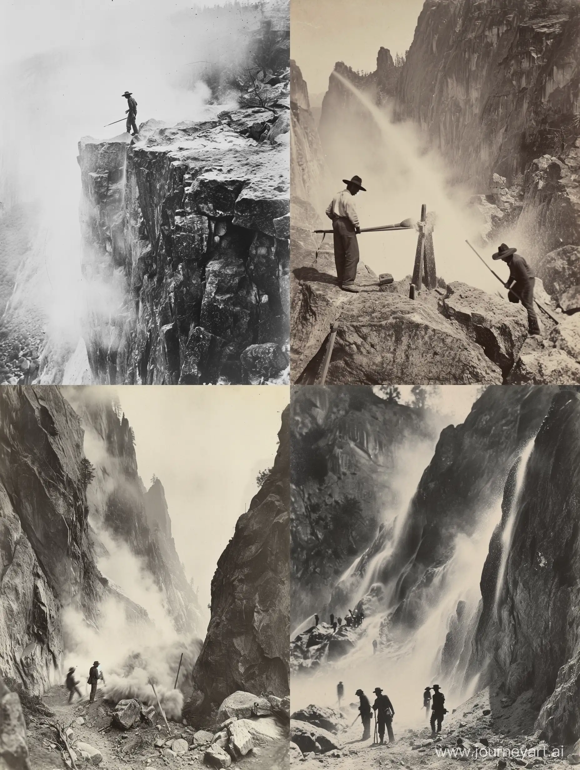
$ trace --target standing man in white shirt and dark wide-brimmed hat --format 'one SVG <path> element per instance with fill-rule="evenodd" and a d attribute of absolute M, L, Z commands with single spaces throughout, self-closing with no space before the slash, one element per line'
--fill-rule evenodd
<path fill-rule="evenodd" d="M 346 189 L 340 190 L 327 208 L 327 217 L 332 219 L 334 233 L 334 263 L 337 266 L 338 283 L 344 291 L 357 293 L 354 286 L 359 259 L 357 233 L 360 233 L 354 196 L 363 190 L 360 176 L 343 179 Z"/>

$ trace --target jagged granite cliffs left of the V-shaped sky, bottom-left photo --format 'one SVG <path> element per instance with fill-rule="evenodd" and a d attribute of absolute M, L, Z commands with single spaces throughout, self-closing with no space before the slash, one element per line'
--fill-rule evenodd
<path fill-rule="evenodd" d="M 38 693 L 62 678 L 62 610 L 72 608 L 99 628 L 99 604 L 113 597 L 129 622 L 147 621 L 146 611 L 99 571 L 106 547 L 89 518 L 146 561 L 176 628 L 199 628 L 196 597 L 167 531 L 166 509 L 159 508 L 160 484 L 148 494 L 139 489 L 128 423 L 110 404 L 90 399 L 85 389 L 0 393 L 0 669 Z M 92 480 L 83 450 L 88 417 L 109 451 L 95 458 Z M 165 521 L 165 531 L 151 526 L 153 519 Z"/>

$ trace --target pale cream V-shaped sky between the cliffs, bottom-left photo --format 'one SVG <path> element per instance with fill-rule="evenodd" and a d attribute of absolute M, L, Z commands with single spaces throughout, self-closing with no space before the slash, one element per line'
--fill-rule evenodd
<path fill-rule="evenodd" d="M 277 451 L 287 387 L 122 387 L 139 475 L 163 483 L 173 537 L 203 606 L 217 560 Z"/>

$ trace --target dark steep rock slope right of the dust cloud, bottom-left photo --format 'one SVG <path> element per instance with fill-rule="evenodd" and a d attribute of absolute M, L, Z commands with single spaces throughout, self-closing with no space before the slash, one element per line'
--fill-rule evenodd
<path fill-rule="evenodd" d="M 289 694 L 289 410 L 283 412 L 273 468 L 238 519 L 213 576 L 210 625 L 189 704 L 197 714 L 237 690 Z"/>

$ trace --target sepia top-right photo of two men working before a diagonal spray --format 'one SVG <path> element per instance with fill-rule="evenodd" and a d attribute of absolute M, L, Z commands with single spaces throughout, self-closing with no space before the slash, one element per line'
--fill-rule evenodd
<path fill-rule="evenodd" d="M 575 0 L 293 0 L 297 384 L 580 383 Z"/>

